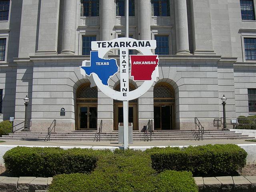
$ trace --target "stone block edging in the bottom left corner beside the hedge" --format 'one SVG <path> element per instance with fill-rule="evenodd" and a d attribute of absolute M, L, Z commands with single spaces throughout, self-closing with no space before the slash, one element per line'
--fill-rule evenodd
<path fill-rule="evenodd" d="M 46 192 L 52 183 L 52 177 L 3 177 L 0 176 L 0 191 Z"/>

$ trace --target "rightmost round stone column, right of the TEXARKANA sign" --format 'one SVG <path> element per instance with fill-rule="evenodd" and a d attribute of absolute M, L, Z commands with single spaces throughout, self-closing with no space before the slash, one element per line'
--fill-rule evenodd
<path fill-rule="evenodd" d="M 175 0 L 176 54 L 190 54 L 186 0 Z"/>

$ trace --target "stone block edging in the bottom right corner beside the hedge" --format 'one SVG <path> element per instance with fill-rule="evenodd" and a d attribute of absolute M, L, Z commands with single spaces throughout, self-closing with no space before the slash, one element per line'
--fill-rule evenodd
<path fill-rule="evenodd" d="M 256 176 L 194 177 L 199 191 L 256 190 Z"/>

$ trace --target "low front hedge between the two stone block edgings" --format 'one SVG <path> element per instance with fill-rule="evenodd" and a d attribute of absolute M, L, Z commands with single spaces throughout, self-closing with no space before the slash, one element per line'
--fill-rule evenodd
<path fill-rule="evenodd" d="M 54 176 L 48 192 L 198 192 L 198 187 L 189 172 L 145 176 L 108 170 Z"/>

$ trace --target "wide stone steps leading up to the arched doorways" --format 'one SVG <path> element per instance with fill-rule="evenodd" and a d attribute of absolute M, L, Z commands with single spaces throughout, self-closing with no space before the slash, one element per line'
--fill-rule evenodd
<path fill-rule="evenodd" d="M 2 136 L 0 140 L 37 140 L 44 141 L 47 138 L 47 132 L 16 132 L 7 136 Z M 56 132 L 51 134 L 51 140 L 65 141 L 118 141 L 118 132 L 100 133 L 96 131 L 72 131 L 72 132 Z M 168 130 L 152 132 L 152 141 L 168 141 L 168 140 L 201 140 L 198 130 Z M 203 140 L 230 140 L 230 139 L 255 139 L 235 133 L 234 131 L 222 130 L 205 130 Z M 150 133 L 133 132 L 134 141 L 149 141 Z"/>

